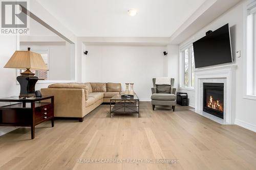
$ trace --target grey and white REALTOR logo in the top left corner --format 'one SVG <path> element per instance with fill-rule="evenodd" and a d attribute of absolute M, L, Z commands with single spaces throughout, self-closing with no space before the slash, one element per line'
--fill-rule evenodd
<path fill-rule="evenodd" d="M 26 1 L 1 2 L 1 34 L 28 34 L 28 16 L 22 9 L 27 9 Z"/>

